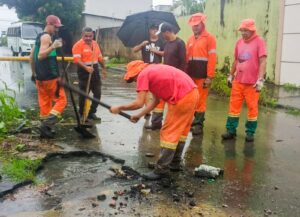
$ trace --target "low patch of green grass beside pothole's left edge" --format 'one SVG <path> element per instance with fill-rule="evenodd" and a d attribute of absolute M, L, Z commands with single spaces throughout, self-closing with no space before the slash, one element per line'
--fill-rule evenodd
<path fill-rule="evenodd" d="M 35 171 L 40 163 L 41 160 L 12 157 L 3 162 L 2 172 L 16 182 L 35 181 Z"/>

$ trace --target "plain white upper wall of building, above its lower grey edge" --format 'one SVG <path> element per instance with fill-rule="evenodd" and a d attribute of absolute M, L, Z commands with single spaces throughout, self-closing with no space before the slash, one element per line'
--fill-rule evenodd
<path fill-rule="evenodd" d="M 152 0 L 86 0 L 86 14 L 125 19 L 127 15 L 152 9 Z"/>

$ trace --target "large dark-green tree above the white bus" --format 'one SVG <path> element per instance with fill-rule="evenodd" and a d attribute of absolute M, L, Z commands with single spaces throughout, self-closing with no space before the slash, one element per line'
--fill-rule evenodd
<path fill-rule="evenodd" d="M 81 20 L 85 0 L 0 0 L 0 5 L 15 8 L 21 20 L 45 22 L 45 18 L 54 14 L 64 26 L 75 32 Z"/>

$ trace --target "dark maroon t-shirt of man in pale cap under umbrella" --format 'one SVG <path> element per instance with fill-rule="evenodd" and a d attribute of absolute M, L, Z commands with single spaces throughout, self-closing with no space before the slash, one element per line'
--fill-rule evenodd
<path fill-rule="evenodd" d="M 169 41 L 164 48 L 164 64 L 185 71 L 186 67 L 185 43 L 180 38 Z"/>

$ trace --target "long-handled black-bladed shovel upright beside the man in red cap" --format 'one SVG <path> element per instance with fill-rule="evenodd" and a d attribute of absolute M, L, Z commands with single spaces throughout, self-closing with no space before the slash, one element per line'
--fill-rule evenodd
<path fill-rule="evenodd" d="M 69 84 L 69 76 L 68 76 L 68 73 L 66 71 L 66 68 L 65 68 L 65 60 L 64 60 L 64 55 L 63 55 L 63 52 L 61 52 L 61 56 L 62 56 L 62 68 L 63 68 L 63 74 L 64 74 L 64 77 L 66 79 L 66 82 L 67 84 Z M 64 82 L 61 82 L 60 83 L 64 83 Z M 75 99 L 74 99 L 74 96 L 73 96 L 73 92 L 71 89 L 69 89 L 70 91 L 70 97 L 71 97 L 71 101 L 72 101 L 72 105 L 73 105 L 73 109 L 74 109 L 74 112 L 75 112 L 75 116 L 76 116 L 76 120 L 77 120 L 77 126 L 74 127 L 75 131 L 77 133 L 79 133 L 83 138 L 85 139 L 92 139 L 92 138 L 95 138 L 96 136 L 92 133 L 90 133 L 89 131 L 87 131 L 87 127 L 88 126 L 85 126 L 85 125 L 82 125 L 80 124 L 80 118 L 79 118 L 79 113 L 78 113 L 78 110 L 77 110 L 77 107 L 76 107 L 76 104 L 75 104 Z"/>

